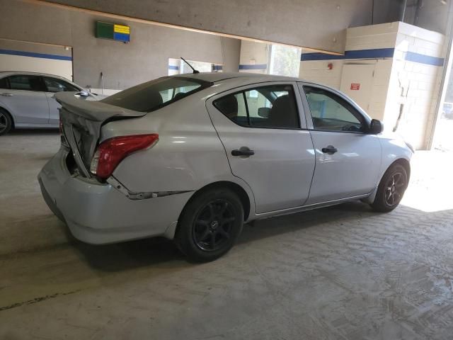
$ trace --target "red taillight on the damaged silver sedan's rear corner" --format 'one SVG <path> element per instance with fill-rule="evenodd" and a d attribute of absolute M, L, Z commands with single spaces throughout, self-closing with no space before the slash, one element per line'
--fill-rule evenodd
<path fill-rule="evenodd" d="M 159 135 L 132 135 L 113 137 L 105 140 L 98 146 L 91 160 L 90 171 L 92 174 L 107 179 L 118 164 L 132 152 L 151 147 L 159 140 Z"/>

